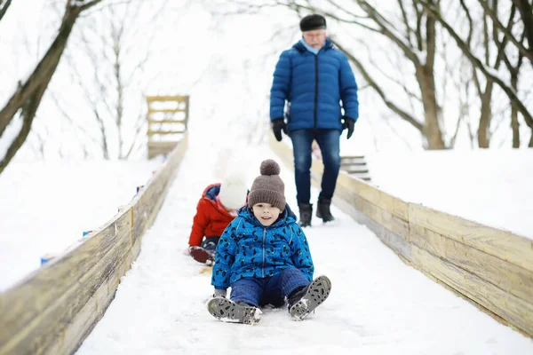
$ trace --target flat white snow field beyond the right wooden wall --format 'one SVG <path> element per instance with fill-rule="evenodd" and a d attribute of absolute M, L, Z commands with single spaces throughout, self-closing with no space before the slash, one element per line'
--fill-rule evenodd
<path fill-rule="evenodd" d="M 387 193 L 533 239 L 533 149 L 366 156 Z"/>

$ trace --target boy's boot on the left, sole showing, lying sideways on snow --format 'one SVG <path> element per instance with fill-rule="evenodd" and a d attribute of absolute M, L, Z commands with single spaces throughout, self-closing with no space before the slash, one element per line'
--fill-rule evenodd
<path fill-rule="evenodd" d="M 224 297 L 211 298 L 207 303 L 207 311 L 216 319 L 224 322 L 257 324 L 261 319 L 261 310 L 249 304 L 235 302 Z"/>

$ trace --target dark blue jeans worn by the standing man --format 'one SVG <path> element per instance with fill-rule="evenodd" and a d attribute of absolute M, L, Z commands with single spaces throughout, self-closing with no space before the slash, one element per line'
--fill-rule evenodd
<path fill-rule="evenodd" d="M 298 204 L 309 203 L 311 199 L 311 145 L 314 139 L 320 146 L 324 164 L 322 191 L 318 198 L 333 197 L 338 170 L 340 170 L 340 133 L 340 130 L 294 130 L 290 132 Z"/>

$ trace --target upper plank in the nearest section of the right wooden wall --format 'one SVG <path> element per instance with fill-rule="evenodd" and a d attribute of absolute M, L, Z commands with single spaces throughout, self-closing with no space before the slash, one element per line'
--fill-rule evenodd
<path fill-rule="evenodd" d="M 409 204 L 410 222 L 533 272 L 533 241 L 465 218 Z"/>

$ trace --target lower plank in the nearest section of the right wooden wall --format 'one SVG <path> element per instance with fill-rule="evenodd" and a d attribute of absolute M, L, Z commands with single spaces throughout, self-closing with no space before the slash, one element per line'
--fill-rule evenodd
<path fill-rule="evenodd" d="M 529 336 L 533 335 L 533 304 L 506 293 L 473 273 L 442 260 L 414 244 L 411 245 L 411 256 L 414 264 L 450 288 L 495 312 Z"/>

